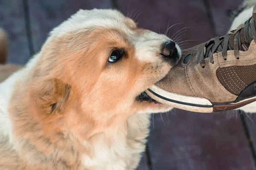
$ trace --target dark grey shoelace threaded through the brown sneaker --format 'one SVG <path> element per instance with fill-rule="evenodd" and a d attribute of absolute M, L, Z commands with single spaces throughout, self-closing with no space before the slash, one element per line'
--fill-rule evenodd
<path fill-rule="evenodd" d="M 244 24 L 240 25 L 236 30 L 230 31 L 229 34 L 221 37 L 215 37 L 205 43 L 204 48 L 199 52 L 199 61 L 201 66 L 204 68 L 205 59 L 208 58 L 209 62 L 214 63 L 213 54 L 222 51 L 222 56 L 227 59 L 227 51 L 234 50 L 235 57 L 239 59 L 239 49 L 242 48 L 243 43 L 241 42 L 240 32 L 244 28 L 244 39 L 245 42 L 249 42 L 250 37 L 253 38 L 256 43 L 256 25 L 254 17 L 250 17 Z M 251 23 L 251 24 L 250 24 Z M 251 25 L 251 26 L 250 26 Z M 230 36 L 234 34 L 234 47 L 233 49 L 229 45 Z"/>

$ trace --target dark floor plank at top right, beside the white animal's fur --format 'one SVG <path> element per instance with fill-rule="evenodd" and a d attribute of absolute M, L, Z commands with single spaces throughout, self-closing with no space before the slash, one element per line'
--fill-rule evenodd
<path fill-rule="evenodd" d="M 232 21 L 228 16 L 228 11 L 236 10 L 244 0 L 207 0 L 209 2 L 210 12 L 212 13 L 217 35 L 227 34 Z"/>

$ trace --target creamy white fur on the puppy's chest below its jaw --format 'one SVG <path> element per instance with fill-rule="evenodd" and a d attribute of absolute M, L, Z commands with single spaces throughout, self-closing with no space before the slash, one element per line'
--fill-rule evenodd
<path fill-rule="evenodd" d="M 104 144 L 105 139 L 102 136 L 93 146 L 96 156 L 93 159 L 87 155 L 83 156 L 82 163 L 84 167 L 89 169 L 96 167 L 95 170 L 130 170 L 134 168 L 134 163 L 137 164 L 136 161 L 140 159 L 140 154 L 138 153 L 143 152 L 145 149 L 145 137 L 149 132 L 149 117 L 150 115 L 145 113 L 133 115 L 129 119 L 127 137 L 121 133 L 113 135 L 111 146 L 107 147 Z M 138 143 L 139 141 L 144 143 L 144 146 L 135 144 L 135 138 L 138 140 Z M 131 162 L 132 159 L 135 162 Z M 127 165 L 129 168 L 127 168 Z"/>

